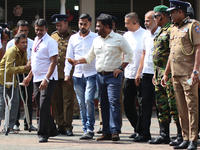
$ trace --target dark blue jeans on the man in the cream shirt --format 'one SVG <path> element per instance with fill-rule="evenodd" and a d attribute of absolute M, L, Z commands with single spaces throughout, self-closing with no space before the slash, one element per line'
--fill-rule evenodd
<path fill-rule="evenodd" d="M 96 80 L 103 120 L 103 133 L 120 133 L 121 109 L 119 98 L 122 85 L 122 73 L 117 78 L 113 77 L 113 73 L 108 75 L 97 73 Z"/>

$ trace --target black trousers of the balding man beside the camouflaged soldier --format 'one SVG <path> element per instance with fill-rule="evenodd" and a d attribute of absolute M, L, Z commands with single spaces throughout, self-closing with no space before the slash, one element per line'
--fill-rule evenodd
<path fill-rule="evenodd" d="M 155 87 L 152 83 L 153 74 L 143 74 L 142 77 L 142 114 L 138 125 L 139 134 L 151 137 L 150 125 Z"/>

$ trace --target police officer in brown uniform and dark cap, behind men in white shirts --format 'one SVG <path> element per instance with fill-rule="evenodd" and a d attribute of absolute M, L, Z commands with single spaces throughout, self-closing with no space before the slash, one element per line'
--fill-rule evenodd
<path fill-rule="evenodd" d="M 52 97 L 53 116 L 58 125 L 61 134 L 73 136 L 73 108 L 75 93 L 73 84 L 69 85 L 64 81 L 64 66 L 67 44 L 70 36 L 73 34 L 67 22 L 68 15 L 55 14 L 53 24 L 56 25 L 57 31 L 51 34 L 51 37 L 58 42 L 58 84 Z M 71 71 L 71 75 L 73 70 Z M 72 82 L 72 81 L 71 81 Z"/>

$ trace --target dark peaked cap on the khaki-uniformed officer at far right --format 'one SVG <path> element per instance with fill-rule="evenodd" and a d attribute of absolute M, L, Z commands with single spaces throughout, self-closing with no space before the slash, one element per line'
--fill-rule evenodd
<path fill-rule="evenodd" d="M 171 11 L 177 8 L 187 10 L 187 7 L 190 6 L 187 2 L 182 2 L 179 0 L 169 0 L 169 2 L 170 2 L 170 8 L 167 9 L 167 11 Z"/>

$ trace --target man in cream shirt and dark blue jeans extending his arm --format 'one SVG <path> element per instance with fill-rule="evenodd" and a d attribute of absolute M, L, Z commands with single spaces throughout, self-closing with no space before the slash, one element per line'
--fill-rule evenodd
<path fill-rule="evenodd" d="M 110 15 L 100 15 L 96 20 L 96 30 L 100 36 L 94 39 L 89 53 L 83 58 L 74 59 L 72 64 L 89 64 L 96 58 L 97 89 L 103 119 L 103 135 L 97 140 L 118 141 L 121 132 L 119 98 L 122 73 L 132 62 L 133 53 L 126 39 L 113 32 Z M 123 54 L 126 56 L 122 62 Z"/>

